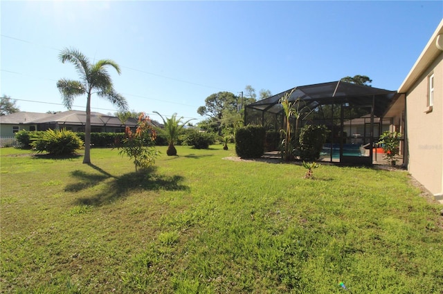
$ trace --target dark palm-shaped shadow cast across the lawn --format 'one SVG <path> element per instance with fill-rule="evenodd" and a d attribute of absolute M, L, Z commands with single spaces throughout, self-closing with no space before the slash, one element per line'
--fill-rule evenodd
<path fill-rule="evenodd" d="M 105 170 L 97 166 L 91 166 L 99 170 L 101 175 L 96 173 L 86 173 L 81 170 L 74 170 L 72 175 L 80 179 L 79 183 L 66 186 L 65 190 L 69 192 L 78 192 L 86 188 L 91 188 L 105 181 L 105 188 L 100 188 L 88 197 L 81 197 L 75 201 L 75 204 L 101 206 L 109 204 L 117 199 L 124 199 L 132 193 L 138 193 L 143 190 L 188 190 L 188 187 L 181 184 L 183 177 L 179 175 L 159 175 L 156 173 L 156 167 L 138 171 L 136 173 L 127 173 L 120 177 L 114 177 Z"/>

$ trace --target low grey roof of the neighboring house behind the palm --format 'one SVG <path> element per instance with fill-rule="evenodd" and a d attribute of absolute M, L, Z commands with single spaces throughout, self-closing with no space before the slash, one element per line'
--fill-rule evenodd
<path fill-rule="evenodd" d="M 37 113 L 15 112 L 11 115 L 0 117 L 1 124 L 58 124 L 83 126 L 86 124 L 86 112 L 68 110 L 64 112 Z M 91 126 L 137 126 L 137 120 L 130 117 L 123 124 L 118 117 L 104 115 L 100 112 L 91 112 Z"/>

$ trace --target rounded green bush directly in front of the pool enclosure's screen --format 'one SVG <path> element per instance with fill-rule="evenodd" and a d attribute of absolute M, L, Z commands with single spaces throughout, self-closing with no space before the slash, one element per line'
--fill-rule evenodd
<path fill-rule="evenodd" d="M 300 159 L 314 161 L 320 158 L 320 152 L 325 144 L 329 130 L 326 126 L 306 125 L 300 130 L 299 154 Z"/>

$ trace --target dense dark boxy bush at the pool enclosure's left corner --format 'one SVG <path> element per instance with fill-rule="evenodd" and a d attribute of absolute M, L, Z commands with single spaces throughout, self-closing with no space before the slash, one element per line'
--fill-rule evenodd
<path fill-rule="evenodd" d="M 242 158 L 260 158 L 264 154 L 266 130 L 263 126 L 238 128 L 235 133 L 235 152 Z"/>

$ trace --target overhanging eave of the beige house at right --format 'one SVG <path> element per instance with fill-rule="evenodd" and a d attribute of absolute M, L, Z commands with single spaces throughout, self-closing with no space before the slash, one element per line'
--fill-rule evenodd
<path fill-rule="evenodd" d="M 440 21 L 437 29 L 429 39 L 428 43 L 424 47 L 422 54 L 415 61 L 413 68 L 410 69 L 406 79 L 404 79 L 398 92 L 406 93 L 410 87 L 415 84 L 415 81 L 423 74 L 423 72 L 428 68 L 431 63 L 437 58 L 438 55 L 442 54 L 443 50 L 443 19 Z"/>

